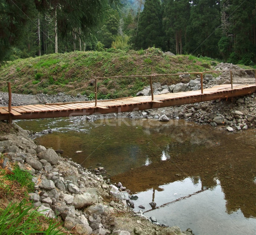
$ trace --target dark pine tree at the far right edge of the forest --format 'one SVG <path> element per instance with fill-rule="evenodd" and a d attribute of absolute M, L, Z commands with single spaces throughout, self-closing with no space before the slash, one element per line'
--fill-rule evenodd
<path fill-rule="evenodd" d="M 223 37 L 219 46 L 231 55 L 229 62 L 238 62 L 232 58 L 247 65 L 256 62 L 256 0 L 222 0 L 221 16 Z"/>

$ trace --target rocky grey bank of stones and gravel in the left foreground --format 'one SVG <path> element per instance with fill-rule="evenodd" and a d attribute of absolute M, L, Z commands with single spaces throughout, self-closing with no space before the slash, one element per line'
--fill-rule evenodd
<path fill-rule="evenodd" d="M 0 126 L 12 129 L 3 122 Z M 53 149 L 37 146 L 29 132 L 16 124 L 12 126 L 12 132 L 0 135 L 1 168 L 12 170 L 17 164 L 20 169 L 29 170 L 35 183 L 29 199 L 47 217 L 60 218 L 72 234 L 192 234 L 191 229 L 181 232 L 176 226 L 165 227 L 155 218 L 145 217 L 142 211 L 135 213 L 130 207 L 129 190 L 111 185 L 100 174 L 104 169 L 99 167 L 95 175 Z"/>

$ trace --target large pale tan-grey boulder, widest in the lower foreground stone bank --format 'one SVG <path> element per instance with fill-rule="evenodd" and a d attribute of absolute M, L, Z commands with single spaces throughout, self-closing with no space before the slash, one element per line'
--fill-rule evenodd
<path fill-rule="evenodd" d="M 96 189 L 87 189 L 83 194 L 76 194 L 74 197 L 74 201 L 72 203 L 76 209 L 84 208 L 85 206 L 90 206 L 93 203 L 98 202 L 98 195 Z"/>

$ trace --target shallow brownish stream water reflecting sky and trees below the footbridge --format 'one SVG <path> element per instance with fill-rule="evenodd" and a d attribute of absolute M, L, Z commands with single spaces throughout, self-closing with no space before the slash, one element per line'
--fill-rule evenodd
<path fill-rule="evenodd" d="M 139 199 L 135 210 L 196 235 L 256 234 L 256 132 L 237 134 L 184 120 L 79 118 L 19 121 L 53 133 L 36 139 L 84 167 L 101 163 Z M 79 151 L 79 152 L 77 152 Z M 155 201 L 152 209 L 149 203 Z"/>

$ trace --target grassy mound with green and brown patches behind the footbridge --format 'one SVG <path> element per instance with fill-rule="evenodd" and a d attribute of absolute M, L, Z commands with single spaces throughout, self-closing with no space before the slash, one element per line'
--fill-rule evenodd
<path fill-rule="evenodd" d="M 203 72 L 212 69 L 212 61 L 192 55 L 170 56 L 154 48 L 128 52 L 111 49 L 106 52 L 48 54 L 15 60 L 1 67 L 0 91 L 7 92 L 6 82 L 10 81 L 15 93 L 65 92 L 93 97 L 95 77 Z M 172 85 L 186 80 L 172 76 L 154 78 L 153 82 Z M 101 79 L 98 98 L 134 96 L 148 85 L 148 78 L 143 77 Z"/>

